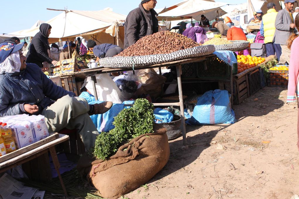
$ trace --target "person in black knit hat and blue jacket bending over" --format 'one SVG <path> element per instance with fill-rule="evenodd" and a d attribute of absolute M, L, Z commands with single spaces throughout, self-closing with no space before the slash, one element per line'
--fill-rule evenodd
<path fill-rule="evenodd" d="M 99 60 L 99 58 L 113 57 L 123 51 L 123 49 L 117 45 L 114 44 L 97 45 L 95 41 L 91 39 L 87 41 L 87 47 L 89 47 L 89 49 L 92 50 L 94 55 L 97 56 L 97 61 Z"/>

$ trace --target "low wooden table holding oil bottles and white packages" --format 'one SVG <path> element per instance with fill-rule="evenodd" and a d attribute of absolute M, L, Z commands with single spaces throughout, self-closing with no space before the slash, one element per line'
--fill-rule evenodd
<path fill-rule="evenodd" d="M 68 135 L 62 135 L 59 134 L 59 137 L 55 139 L 54 141 L 50 141 L 48 143 L 43 144 L 42 146 L 39 146 L 35 149 L 31 149 L 28 152 L 22 153 L 14 158 L 11 158 L 7 161 L 1 162 L 0 163 L 0 173 L 7 171 L 8 169 L 11 169 L 15 166 L 21 165 L 25 162 L 28 162 L 30 160 L 33 160 L 34 158 L 39 157 L 40 155 L 43 155 L 44 153 L 50 152 L 52 156 L 52 160 L 55 166 L 55 169 L 57 171 L 63 192 L 65 196 L 67 196 L 67 192 L 64 186 L 64 183 L 62 181 L 59 168 L 60 168 L 60 163 L 57 158 L 56 150 L 55 150 L 55 145 L 60 144 L 64 141 L 67 141 L 69 139 Z"/>

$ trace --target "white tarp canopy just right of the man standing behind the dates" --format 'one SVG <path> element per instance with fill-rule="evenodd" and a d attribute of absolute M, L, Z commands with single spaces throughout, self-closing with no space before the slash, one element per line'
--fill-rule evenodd
<path fill-rule="evenodd" d="M 159 14 L 158 18 L 160 20 L 172 21 L 192 17 L 196 20 L 200 20 L 200 16 L 203 14 L 209 20 L 212 20 L 217 15 L 221 16 L 226 14 L 226 12 L 220 8 L 226 4 L 227 3 L 204 0 L 188 0 L 172 10 Z"/>

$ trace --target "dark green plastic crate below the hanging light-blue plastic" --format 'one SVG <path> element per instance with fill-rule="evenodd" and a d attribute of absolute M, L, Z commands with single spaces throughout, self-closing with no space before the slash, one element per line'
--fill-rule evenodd
<path fill-rule="evenodd" d="M 197 76 L 200 79 L 228 79 L 231 74 L 231 66 L 218 58 L 212 58 L 206 61 L 207 68 L 203 63 L 198 64 Z M 233 65 L 233 75 L 237 74 L 238 66 Z"/>

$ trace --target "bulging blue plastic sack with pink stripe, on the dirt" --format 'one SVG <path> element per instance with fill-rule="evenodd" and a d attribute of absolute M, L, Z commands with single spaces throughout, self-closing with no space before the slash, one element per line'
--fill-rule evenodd
<path fill-rule="evenodd" d="M 187 124 L 233 124 L 235 114 L 229 103 L 227 90 L 207 91 L 197 99 L 193 115 L 187 120 Z"/>

